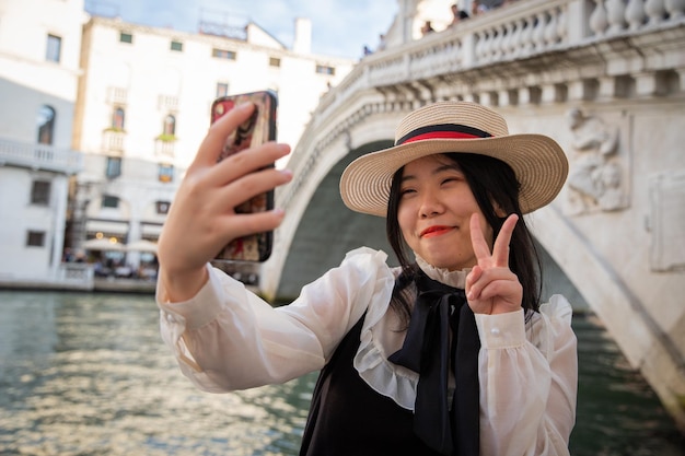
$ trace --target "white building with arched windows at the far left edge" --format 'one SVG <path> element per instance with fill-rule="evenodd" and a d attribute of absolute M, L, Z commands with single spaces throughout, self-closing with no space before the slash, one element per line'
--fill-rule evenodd
<path fill-rule="evenodd" d="M 0 0 L 0 279 L 59 273 L 82 0 Z"/>

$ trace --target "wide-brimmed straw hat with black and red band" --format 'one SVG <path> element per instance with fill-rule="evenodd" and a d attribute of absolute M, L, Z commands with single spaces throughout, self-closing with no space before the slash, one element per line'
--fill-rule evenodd
<path fill-rule="evenodd" d="M 568 174 L 566 154 L 543 135 L 509 135 L 496 112 L 476 103 L 440 102 L 407 115 L 395 147 L 362 155 L 340 178 L 340 196 L 353 211 L 385 217 L 393 175 L 407 163 L 436 153 L 475 153 L 507 163 L 521 185 L 523 213 L 549 203 Z"/>

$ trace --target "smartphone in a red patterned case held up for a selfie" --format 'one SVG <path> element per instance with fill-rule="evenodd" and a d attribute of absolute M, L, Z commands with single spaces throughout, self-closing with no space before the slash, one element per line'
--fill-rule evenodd
<path fill-rule="evenodd" d="M 218 161 L 234 153 L 276 140 L 276 112 L 278 98 L 272 91 L 259 91 L 228 95 L 214 100 L 211 105 L 211 122 L 246 102 L 255 104 L 255 110 L 245 122 L 231 133 Z M 271 164 L 270 166 L 274 166 Z M 235 207 L 236 213 L 254 213 L 274 209 L 274 190 L 257 195 Z M 227 244 L 214 257 L 218 261 L 266 261 L 271 255 L 271 231 L 239 237 Z"/>

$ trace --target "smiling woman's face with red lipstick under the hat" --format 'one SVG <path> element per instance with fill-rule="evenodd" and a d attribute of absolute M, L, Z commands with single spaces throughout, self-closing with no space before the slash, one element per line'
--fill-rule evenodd
<path fill-rule="evenodd" d="M 492 248 L 492 229 L 456 162 L 436 154 L 408 163 L 399 194 L 397 222 L 404 239 L 432 266 L 453 271 L 476 265 L 469 231 L 474 212 Z"/>

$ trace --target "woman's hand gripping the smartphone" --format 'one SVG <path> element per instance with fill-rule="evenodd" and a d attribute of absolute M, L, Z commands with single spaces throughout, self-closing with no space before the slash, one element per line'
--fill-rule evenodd
<path fill-rule="evenodd" d="M 227 243 L 274 230 L 283 220 L 280 209 L 236 214 L 234 208 L 290 182 L 289 171 L 267 167 L 287 155 L 290 147 L 268 142 L 217 163 L 227 137 L 253 110 L 254 104 L 241 104 L 209 128 L 178 187 L 158 246 L 160 281 L 170 301 L 185 301 L 199 291 L 207 281 L 207 262 Z"/>

